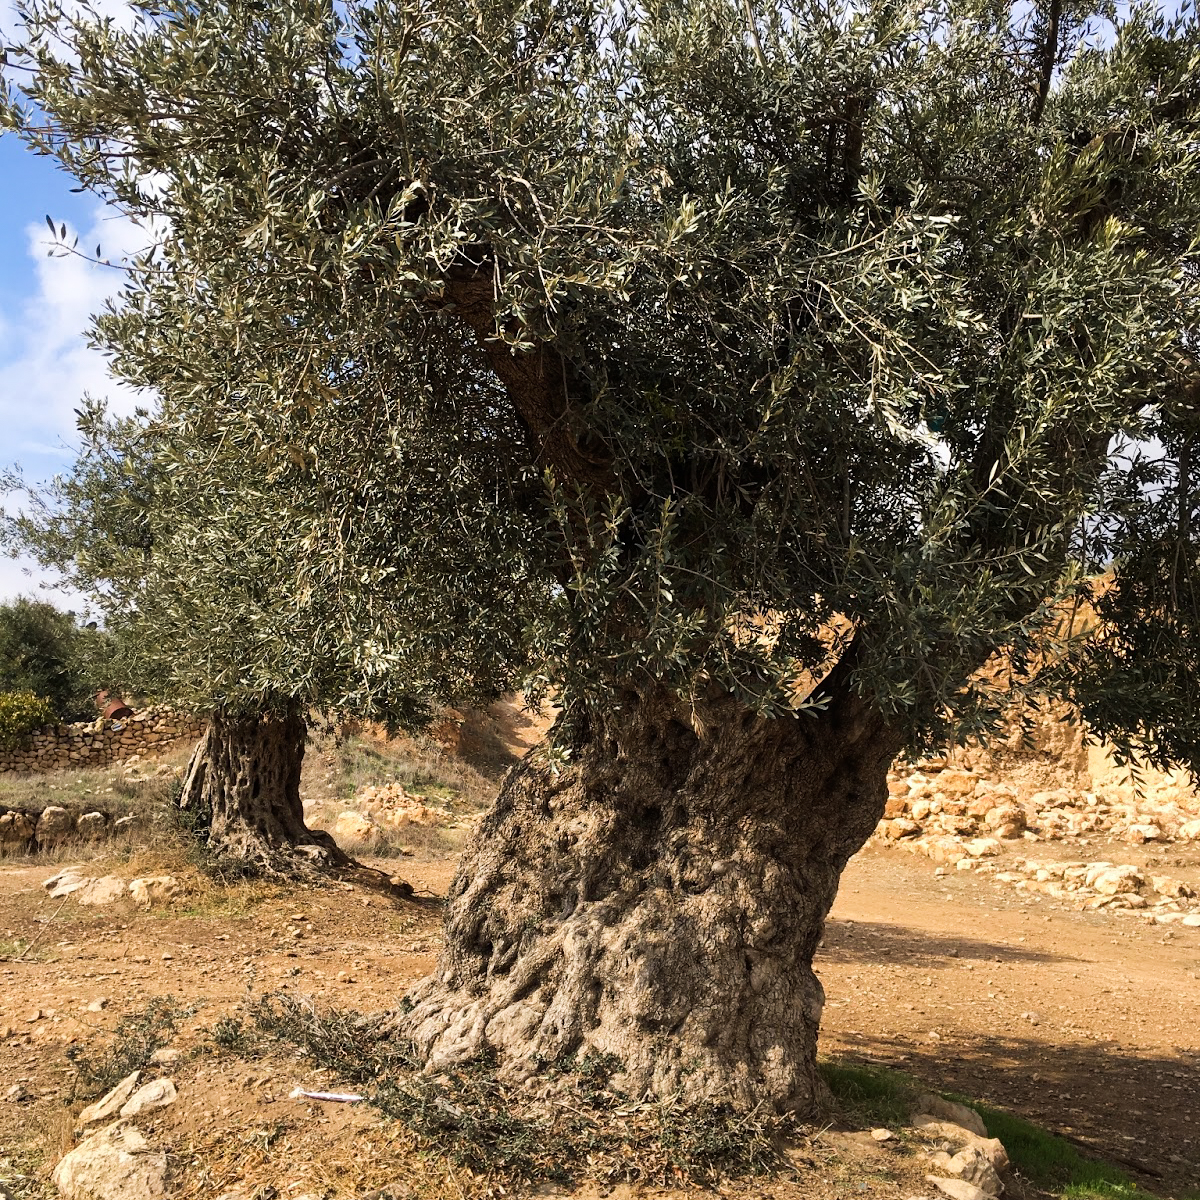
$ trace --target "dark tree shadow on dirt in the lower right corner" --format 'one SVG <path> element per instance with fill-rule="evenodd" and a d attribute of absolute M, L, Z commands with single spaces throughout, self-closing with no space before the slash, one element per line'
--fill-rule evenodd
<path fill-rule="evenodd" d="M 1126 1168 L 1148 1192 L 1194 1194 L 1200 1181 L 1200 1054 L 960 1032 L 938 1043 L 834 1034 L 822 1050 L 1024 1117 Z"/>

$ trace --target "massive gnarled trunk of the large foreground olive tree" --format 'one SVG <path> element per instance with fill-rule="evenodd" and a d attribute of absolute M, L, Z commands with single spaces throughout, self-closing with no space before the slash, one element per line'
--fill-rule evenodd
<path fill-rule="evenodd" d="M 812 954 L 898 750 L 859 709 L 768 720 L 631 700 L 557 774 L 509 775 L 450 892 L 437 973 L 397 1031 L 430 1069 L 534 1078 L 614 1055 L 635 1096 L 808 1110 Z"/>

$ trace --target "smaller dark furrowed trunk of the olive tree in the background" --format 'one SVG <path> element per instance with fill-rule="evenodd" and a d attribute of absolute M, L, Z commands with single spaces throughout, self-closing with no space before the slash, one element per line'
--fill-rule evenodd
<path fill-rule="evenodd" d="M 192 754 L 180 808 L 208 823 L 214 858 L 270 874 L 349 864 L 329 834 L 304 823 L 305 738 L 295 706 L 248 716 L 212 713 Z"/>

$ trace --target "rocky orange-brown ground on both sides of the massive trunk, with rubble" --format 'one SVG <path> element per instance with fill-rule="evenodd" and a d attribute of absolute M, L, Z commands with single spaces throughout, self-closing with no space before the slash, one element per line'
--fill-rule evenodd
<path fill-rule="evenodd" d="M 503 764 L 540 732 L 498 712 L 450 737 Z M 371 737 L 353 754 L 320 749 L 310 755 L 305 796 L 313 823 L 402 874 L 413 900 L 353 884 L 218 886 L 169 835 L 148 836 L 149 793 L 139 793 L 138 821 L 122 838 L 0 859 L 0 1198 L 7 1188 L 20 1200 L 88 1200 L 94 1158 L 126 1172 L 122 1200 L 528 1192 L 503 1171 L 456 1163 L 367 1105 L 293 1096 L 353 1087 L 294 1048 L 238 1032 L 263 995 L 318 1012 L 379 1012 L 433 968 L 438 899 L 492 785 L 434 750 L 406 754 L 389 758 Z M 926 762 L 894 775 L 887 816 L 851 863 L 818 953 L 822 1049 L 1027 1117 L 1122 1164 L 1145 1192 L 1194 1198 L 1200 805 L 1178 778 L 1139 790 L 1099 767 L 1085 775 L 1044 763 Z M 164 778 L 152 764 L 131 769 Z M 67 811 L 94 804 L 119 818 L 110 784 L 70 782 L 85 784 L 86 797 L 64 798 L 62 781 L 43 779 L 35 799 Z M 17 790 L 6 796 L 12 804 Z M 114 1045 L 149 1037 L 155 1020 L 162 1045 L 142 1055 L 137 1078 L 102 1061 Z M 106 1087 L 125 1084 L 98 1115 L 85 1111 L 103 1091 L 89 1085 L 89 1069 L 107 1073 Z M 997 1171 L 985 1141 L 944 1114 L 874 1135 L 851 1120 L 793 1133 L 787 1168 L 767 1180 L 707 1190 L 746 1200 L 984 1200 L 986 1190 L 962 1189 L 995 1192 L 998 1178 L 1014 1200 L 1045 1194 L 1002 1162 Z M 643 1164 L 642 1181 L 629 1182 L 625 1168 L 601 1158 L 581 1164 L 584 1182 L 572 1194 L 697 1194 L 667 1189 L 662 1163 Z M 568 1192 L 542 1184 L 538 1194 Z"/>

